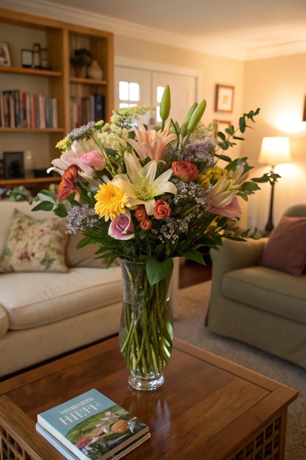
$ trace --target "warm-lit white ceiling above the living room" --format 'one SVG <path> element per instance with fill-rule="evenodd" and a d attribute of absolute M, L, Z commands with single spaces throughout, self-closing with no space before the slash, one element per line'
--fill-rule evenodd
<path fill-rule="evenodd" d="M 93 27 L 99 17 L 105 26 L 108 16 L 116 18 L 108 23 L 117 34 L 221 56 L 244 60 L 306 51 L 306 0 L 27 1 L 44 3 L 66 7 L 72 17 L 85 10 L 87 19 L 95 15 Z"/>

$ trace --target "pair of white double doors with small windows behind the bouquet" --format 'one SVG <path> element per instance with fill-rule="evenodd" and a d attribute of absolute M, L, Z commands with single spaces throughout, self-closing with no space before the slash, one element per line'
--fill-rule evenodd
<path fill-rule="evenodd" d="M 153 105 L 156 111 L 149 111 L 141 121 L 150 127 L 161 125 L 159 104 L 166 85 L 171 90 L 170 117 L 181 125 L 196 100 L 196 78 L 193 76 L 115 67 L 115 107 Z"/>

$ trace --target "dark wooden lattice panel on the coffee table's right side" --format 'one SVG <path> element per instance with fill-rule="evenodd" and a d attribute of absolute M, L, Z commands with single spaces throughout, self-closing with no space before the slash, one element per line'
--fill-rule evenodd
<path fill-rule="evenodd" d="M 278 414 L 227 460 L 283 460 L 286 413 Z"/>

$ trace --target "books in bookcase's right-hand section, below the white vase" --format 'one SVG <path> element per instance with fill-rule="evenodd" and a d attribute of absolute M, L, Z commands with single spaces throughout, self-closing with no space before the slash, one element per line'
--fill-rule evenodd
<path fill-rule="evenodd" d="M 70 97 L 70 125 L 78 128 L 86 125 L 90 120 L 99 121 L 105 118 L 105 97 L 103 94 L 94 94 L 87 98 Z"/>

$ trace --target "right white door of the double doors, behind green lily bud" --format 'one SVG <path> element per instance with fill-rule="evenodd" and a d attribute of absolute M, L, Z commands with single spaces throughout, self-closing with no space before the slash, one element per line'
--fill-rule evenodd
<path fill-rule="evenodd" d="M 159 116 L 159 103 L 164 92 L 165 86 L 170 86 L 171 110 L 170 117 L 173 121 L 178 121 L 181 125 L 190 108 L 195 102 L 196 85 L 195 77 L 185 75 L 163 74 L 161 72 L 152 73 L 152 105 L 156 108 L 156 123 L 161 123 Z"/>

